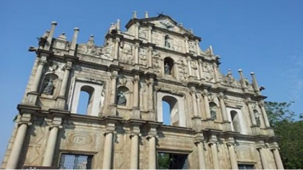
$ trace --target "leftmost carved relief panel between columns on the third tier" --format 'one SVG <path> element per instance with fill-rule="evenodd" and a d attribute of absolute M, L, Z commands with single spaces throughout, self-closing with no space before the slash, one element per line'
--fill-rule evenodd
<path fill-rule="evenodd" d="M 126 42 L 121 42 L 120 44 L 120 53 L 119 53 L 119 61 L 125 64 L 133 64 L 133 45 Z"/>

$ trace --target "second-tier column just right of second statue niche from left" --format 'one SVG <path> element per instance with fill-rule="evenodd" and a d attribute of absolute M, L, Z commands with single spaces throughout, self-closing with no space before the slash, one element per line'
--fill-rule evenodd
<path fill-rule="evenodd" d="M 139 81 L 140 77 L 138 75 L 135 75 L 133 79 L 134 83 L 134 90 L 133 90 L 133 101 L 132 101 L 132 110 L 133 115 L 132 118 L 140 119 L 140 107 L 139 107 Z"/>

